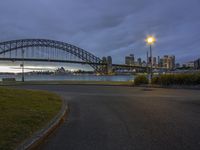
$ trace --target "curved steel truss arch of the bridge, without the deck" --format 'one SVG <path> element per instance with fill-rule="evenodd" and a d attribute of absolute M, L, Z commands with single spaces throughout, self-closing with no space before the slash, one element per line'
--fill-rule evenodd
<path fill-rule="evenodd" d="M 100 66 L 98 64 L 102 63 L 102 60 L 93 55 L 92 53 L 83 50 L 77 46 L 55 41 L 49 39 L 20 39 L 20 40 L 12 40 L 12 41 L 5 41 L 0 43 L 0 55 L 14 51 L 20 50 L 23 48 L 31 48 L 31 47 L 46 47 L 46 48 L 55 48 L 59 50 L 66 51 L 82 61 L 88 63 L 96 72 L 100 71 Z"/>

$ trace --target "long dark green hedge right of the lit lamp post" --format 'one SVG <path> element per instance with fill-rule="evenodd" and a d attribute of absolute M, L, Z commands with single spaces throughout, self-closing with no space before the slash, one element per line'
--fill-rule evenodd
<path fill-rule="evenodd" d="M 152 84 L 159 85 L 198 85 L 200 84 L 200 74 L 165 74 L 152 79 Z"/>

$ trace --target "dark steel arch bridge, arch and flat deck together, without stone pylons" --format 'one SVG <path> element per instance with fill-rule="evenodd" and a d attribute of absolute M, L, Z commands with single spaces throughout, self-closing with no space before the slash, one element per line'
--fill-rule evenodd
<path fill-rule="evenodd" d="M 96 72 L 101 73 L 101 65 L 103 64 L 102 60 L 93 55 L 92 53 L 83 50 L 77 46 L 60 42 L 60 41 L 55 41 L 55 40 L 48 40 L 48 39 L 20 39 L 20 40 L 12 40 L 12 41 L 6 41 L 6 42 L 1 42 L 0 43 L 0 60 L 13 60 L 13 61 L 21 61 L 22 59 L 24 61 L 49 61 L 49 62 L 67 62 L 63 61 L 60 59 L 45 59 L 45 58 L 40 58 L 40 59 L 33 59 L 33 58 L 17 58 L 17 57 L 12 57 L 11 53 L 13 51 L 26 51 L 28 48 L 52 48 L 52 49 L 57 49 L 60 51 L 64 51 L 67 53 L 70 53 L 79 59 L 82 60 L 82 62 L 79 61 L 68 61 L 70 63 L 82 63 L 82 64 L 88 64 Z M 5 54 L 9 54 L 9 57 L 5 57 Z M 16 52 L 17 53 L 17 52 Z M 4 57 L 3 57 L 4 55 Z"/>

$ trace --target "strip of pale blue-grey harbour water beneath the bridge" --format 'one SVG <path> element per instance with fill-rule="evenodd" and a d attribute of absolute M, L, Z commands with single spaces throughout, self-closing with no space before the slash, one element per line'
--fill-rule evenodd
<path fill-rule="evenodd" d="M 21 75 L 17 74 L 1 74 L 0 81 L 3 78 L 15 78 L 17 81 L 21 81 Z M 25 81 L 132 81 L 134 79 L 134 75 L 113 75 L 113 76 L 106 76 L 106 75 L 92 75 L 92 74 L 67 74 L 67 75 L 44 75 L 44 74 L 37 74 L 37 75 L 25 75 Z"/>

